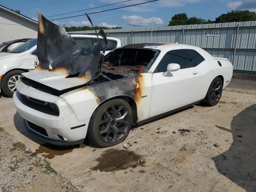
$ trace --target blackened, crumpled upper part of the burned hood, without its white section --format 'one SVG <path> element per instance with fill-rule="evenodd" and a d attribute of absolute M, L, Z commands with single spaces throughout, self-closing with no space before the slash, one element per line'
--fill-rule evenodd
<path fill-rule="evenodd" d="M 91 22 L 88 15 L 87 17 Z M 102 29 L 100 34 L 107 45 L 106 35 Z M 39 11 L 36 55 L 39 60 L 36 70 L 48 70 L 65 77 L 81 78 L 84 84 L 97 78 L 101 73 L 103 59 L 99 62 L 102 56 L 99 40 L 90 50 L 82 50 L 63 27 L 50 22 Z"/>

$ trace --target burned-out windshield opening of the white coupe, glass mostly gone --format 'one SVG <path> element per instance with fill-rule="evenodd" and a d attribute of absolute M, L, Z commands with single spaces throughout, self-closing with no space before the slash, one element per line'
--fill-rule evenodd
<path fill-rule="evenodd" d="M 155 62 L 160 50 L 119 48 L 104 57 L 103 67 L 127 73 L 146 73 Z"/>

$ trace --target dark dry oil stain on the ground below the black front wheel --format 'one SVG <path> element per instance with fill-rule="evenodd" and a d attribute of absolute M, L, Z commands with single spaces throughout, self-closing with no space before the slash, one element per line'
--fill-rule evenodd
<path fill-rule="evenodd" d="M 143 166 L 145 160 L 141 162 L 142 156 L 135 154 L 133 151 L 108 149 L 97 158 L 95 161 L 98 164 L 91 168 L 91 170 L 100 170 L 101 172 L 114 172 L 117 170 L 124 170 L 127 168 L 135 168 Z"/>

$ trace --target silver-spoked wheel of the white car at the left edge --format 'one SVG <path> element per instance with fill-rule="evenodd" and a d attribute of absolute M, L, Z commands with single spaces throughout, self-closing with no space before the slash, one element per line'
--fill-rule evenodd
<path fill-rule="evenodd" d="M 22 73 L 24 71 L 14 70 L 4 75 L 1 81 L 1 89 L 6 95 L 13 96 L 16 91 L 16 82 L 22 77 Z"/>

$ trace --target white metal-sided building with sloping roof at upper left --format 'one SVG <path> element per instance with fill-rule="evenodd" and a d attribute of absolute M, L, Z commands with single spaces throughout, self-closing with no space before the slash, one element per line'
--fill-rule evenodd
<path fill-rule="evenodd" d="M 38 22 L 0 5 L 0 43 L 37 38 Z"/>

